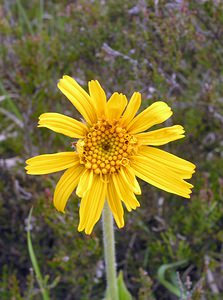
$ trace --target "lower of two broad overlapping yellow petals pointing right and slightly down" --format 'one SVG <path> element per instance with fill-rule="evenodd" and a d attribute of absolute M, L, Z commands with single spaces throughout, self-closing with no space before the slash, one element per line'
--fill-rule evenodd
<path fill-rule="evenodd" d="M 173 194 L 190 198 L 193 185 L 184 181 L 165 165 L 157 163 L 146 156 L 132 157 L 131 166 L 136 176 L 142 180 Z"/>

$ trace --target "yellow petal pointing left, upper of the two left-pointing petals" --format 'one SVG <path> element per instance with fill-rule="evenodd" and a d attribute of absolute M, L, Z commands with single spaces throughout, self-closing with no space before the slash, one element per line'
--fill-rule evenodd
<path fill-rule="evenodd" d="M 88 130 L 82 122 L 58 113 L 42 114 L 38 124 L 71 138 L 83 138 Z"/>

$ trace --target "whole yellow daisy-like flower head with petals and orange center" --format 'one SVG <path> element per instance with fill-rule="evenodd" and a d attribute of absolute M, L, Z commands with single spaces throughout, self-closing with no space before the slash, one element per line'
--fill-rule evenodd
<path fill-rule="evenodd" d="M 135 195 L 141 194 L 136 177 L 173 194 L 190 198 L 194 164 L 155 148 L 184 137 L 184 129 L 174 125 L 147 132 L 166 121 L 170 107 L 162 101 L 141 113 L 141 94 L 130 101 L 114 93 L 107 101 L 97 80 L 88 84 L 89 94 L 71 77 L 63 76 L 58 88 L 83 116 L 80 122 L 59 113 L 44 113 L 39 126 L 62 133 L 72 139 L 75 150 L 43 154 L 26 161 L 27 173 L 49 174 L 66 170 L 57 183 L 53 202 L 64 212 L 74 189 L 81 198 L 79 231 L 90 234 L 108 201 L 116 224 L 124 226 L 124 212 L 140 206 Z"/>

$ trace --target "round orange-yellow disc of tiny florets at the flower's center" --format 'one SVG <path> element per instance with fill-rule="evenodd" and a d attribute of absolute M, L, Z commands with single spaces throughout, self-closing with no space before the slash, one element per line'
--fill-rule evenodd
<path fill-rule="evenodd" d="M 121 166 L 129 164 L 129 156 L 136 150 L 136 138 L 116 120 L 98 120 L 77 142 L 80 163 L 95 174 L 118 172 Z"/>

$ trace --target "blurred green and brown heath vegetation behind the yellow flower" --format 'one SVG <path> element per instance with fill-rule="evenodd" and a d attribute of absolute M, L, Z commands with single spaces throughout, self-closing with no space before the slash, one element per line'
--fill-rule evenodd
<path fill-rule="evenodd" d="M 61 174 L 28 176 L 30 156 L 71 150 L 38 129 L 38 116 L 80 118 L 57 89 L 64 75 L 84 88 L 166 101 L 186 138 L 162 147 L 194 162 L 183 199 L 141 182 L 141 207 L 116 229 L 117 267 L 140 300 L 223 299 L 223 3 L 149 0 L 0 0 L 0 298 L 42 299 L 27 250 L 27 217 L 51 299 L 102 299 L 102 232 L 77 232 L 79 199 L 52 205 Z M 174 287 L 174 288 L 173 288 Z M 183 299 L 181 297 L 181 299 Z"/>

